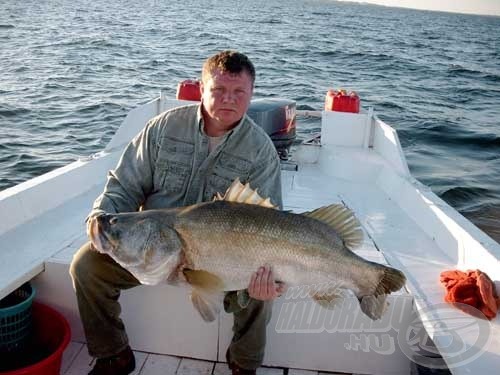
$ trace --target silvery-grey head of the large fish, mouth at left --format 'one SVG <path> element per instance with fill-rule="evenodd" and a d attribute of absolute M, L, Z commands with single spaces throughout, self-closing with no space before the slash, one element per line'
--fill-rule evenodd
<path fill-rule="evenodd" d="M 165 281 L 179 263 L 181 243 L 161 212 L 104 214 L 91 219 L 90 238 L 142 284 Z"/>

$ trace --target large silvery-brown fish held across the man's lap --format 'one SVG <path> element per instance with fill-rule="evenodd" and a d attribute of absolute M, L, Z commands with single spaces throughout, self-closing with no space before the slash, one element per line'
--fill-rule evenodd
<path fill-rule="evenodd" d="M 265 264 L 277 282 L 308 286 L 311 297 L 327 308 L 350 291 L 372 319 L 382 315 L 386 295 L 406 281 L 401 271 L 351 251 L 363 231 L 348 208 L 280 211 L 238 180 L 213 202 L 101 215 L 90 222 L 89 232 L 98 251 L 141 283 L 189 283 L 191 300 L 206 321 L 216 318 L 224 291 L 244 290 Z M 244 292 L 238 298 L 248 301 Z"/>

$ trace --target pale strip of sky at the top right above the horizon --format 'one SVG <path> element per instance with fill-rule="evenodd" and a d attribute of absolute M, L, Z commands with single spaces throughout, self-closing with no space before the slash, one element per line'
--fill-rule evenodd
<path fill-rule="evenodd" d="M 500 16 L 500 0 L 358 0 L 358 2 L 404 8 Z"/>

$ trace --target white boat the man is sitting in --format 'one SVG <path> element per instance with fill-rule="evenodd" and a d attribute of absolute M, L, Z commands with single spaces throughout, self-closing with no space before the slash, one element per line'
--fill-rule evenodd
<path fill-rule="evenodd" d="M 73 254 L 87 240 L 84 218 L 107 171 L 146 121 L 184 104 L 161 95 L 132 110 L 103 151 L 0 192 L 0 299 L 32 280 L 36 299 L 67 318 L 73 342 L 85 342 L 68 275 Z M 288 374 L 408 374 L 415 363 L 453 374 L 498 371 L 500 318 L 478 319 L 444 304 L 439 275 L 480 269 L 500 280 L 499 244 L 411 176 L 396 132 L 371 110 L 320 116 L 321 142 L 304 142 L 282 164 L 284 208 L 345 204 L 365 230 L 357 252 L 401 269 L 408 282 L 377 323 L 350 299 L 321 311 L 307 298 L 282 296 L 268 327 L 264 365 L 289 368 Z M 203 322 L 186 289 L 140 286 L 124 292 L 121 303 L 134 350 L 225 361 L 232 316 L 222 312 Z"/>

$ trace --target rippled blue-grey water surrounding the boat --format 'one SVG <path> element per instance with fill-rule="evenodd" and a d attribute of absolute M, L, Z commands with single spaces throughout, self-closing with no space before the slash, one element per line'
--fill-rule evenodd
<path fill-rule="evenodd" d="M 256 97 L 321 109 L 356 90 L 412 173 L 500 239 L 500 18 L 335 1 L 2 0 L 0 190 L 102 149 L 227 48 Z"/>

